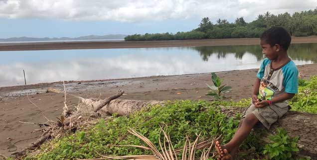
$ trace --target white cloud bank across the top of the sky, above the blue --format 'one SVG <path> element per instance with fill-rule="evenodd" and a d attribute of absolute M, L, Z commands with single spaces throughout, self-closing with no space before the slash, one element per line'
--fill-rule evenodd
<path fill-rule="evenodd" d="M 0 0 L 2 18 L 144 22 L 208 16 L 247 21 L 270 11 L 314 9 L 317 0 Z"/>

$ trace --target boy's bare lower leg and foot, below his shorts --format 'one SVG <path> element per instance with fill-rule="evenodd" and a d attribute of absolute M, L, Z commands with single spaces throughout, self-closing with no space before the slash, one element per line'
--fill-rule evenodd
<path fill-rule="evenodd" d="M 220 157 L 218 160 L 230 160 L 228 154 L 231 152 L 236 152 L 240 144 L 248 137 L 253 126 L 258 122 L 258 118 L 253 114 L 249 113 L 242 121 L 241 127 L 238 128 L 235 135 L 229 143 L 224 146 L 219 145 L 219 142 L 216 142 L 216 147 L 218 147 L 217 152 Z M 232 155 L 234 156 L 234 155 Z M 225 159 L 223 159 L 225 158 Z"/>

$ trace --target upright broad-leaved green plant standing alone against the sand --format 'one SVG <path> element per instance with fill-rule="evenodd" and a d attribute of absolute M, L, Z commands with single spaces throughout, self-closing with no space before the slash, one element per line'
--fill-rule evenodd
<path fill-rule="evenodd" d="M 228 92 L 232 89 L 231 86 L 225 86 L 222 84 L 222 79 L 220 79 L 215 73 L 211 73 L 211 80 L 213 85 L 207 84 L 207 86 L 211 89 L 208 91 L 206 95 L 213 96 L 216 100 L 224 99 L 225 96 L 222 95 L 225 92 Z"/>

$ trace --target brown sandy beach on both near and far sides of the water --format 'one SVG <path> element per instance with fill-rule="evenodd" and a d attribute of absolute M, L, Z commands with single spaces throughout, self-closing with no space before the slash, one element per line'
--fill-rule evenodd
<path fill-rule="evenodd" d="M 222 43 L 220 43 L 222 41 Z M 317 42 L 317 37 L 296 38 L 293 42 L 313 43 Z M 188 43 L 187 43 L 188 42 Z M 118 45 L 110 45 L 99 47 L 175 47 L 179 46 L 208 46 L 210 45 L 229 45 L 229 44 L 258 44 L 259 39 L 230 39 L 230 40 L 196 40 L 171 42 L 167 45 L 166 41 L 161 42 L 118 42 Z M 299 43 L 300 43 L 299 42 Z M 122 43 L 125 43 L 122 44 Z M 152 46 L 147 43 L 152 43 Z M 179 45 L 181 43 L 181 45 Z M 196 45 L 195 45 L 196 44 Z M 36 50 L 49 49 L 57 44 L 45 44 L 39 48 L 32 48 L 32 45 L 20 46 L 0 46 L 0 50 Z M 76 44 L 77 48 L 82 49 L 80 44 Z M 94 44 L 97 45 L 97 44 Z M 101 45 L 101 44 L 99 44 Z M 103 44 L 104 45 L 104 44 Z M 93 46 L 93 45 L 92 45 Z M 92 47 L 90 46 L 90 47 Z M 123 47 L 124 46 L 124 47 Z M 11 48 L 10 48 L 11 47 Z M 23 48 L 24 47 L 24 48 Z M 33 46 L 34 47 L 34 46 Z M 38 46 L 37 46 L 38 47 Z M 55 46 L 56 47 L 56 46 Z M 67 45 L 56 47 L 54 49 L 66 49 Z M 86 46 L 87 47 L 87 46 Z M 89 45 L 88 45 L 89 47 Z M 95 46 L 96 48 L 96 46 Z M 85 48 L 88 49 L 88 48 Z M 300 76 L 308 79 L 310 76 L 317 75 L 317 64 L 298 66 Z M 224 79 L 224 83 L 232 86 L 232 90 L 226 93 L 226 96 L 233 100 L 249 98 L 252 86 L 256 79 L 258 69 L 220 72 L 217 75 Z M 120 79 L 120 80 L 91 80 L 91 81 L 67 81 L 67 92 L 79 95 L 81 97 L 101 97 L 105 98 L 116 93 L 119 89 L 124 90 L 127 95 L 123 95 L 121 99 L 136 100 L 173 100 L 173 99 L 204 99 L 211 100 L 210 96 L 205 94 L 208 92 L 206 83 L 211 84 L 211 74 L 191 74 L 176 76 L 154 76 L 146 78 Z M 31 142 L 34 142 L 41 133 L 34 132 L 39 127 L 33 124 L 25 124 L 22 122 L 43 123 L 47 118 L 55 121 L 62 112 L 64 96 L 63 94 L 46 93 L 47 87 L 63 89 L 62 82 L 40 83 L 32 85 L 20 85 L 10 87 L 0 87 L 0 155 L 9 156 L 15 151 L 19 151 Z M 34 106 L 26 96 L 38 107 Z M 73 106 L 78 104 L 78 99 L 67 96 L 67 104 Z M 1 159 L 1 156 L 0 156 Z"/>

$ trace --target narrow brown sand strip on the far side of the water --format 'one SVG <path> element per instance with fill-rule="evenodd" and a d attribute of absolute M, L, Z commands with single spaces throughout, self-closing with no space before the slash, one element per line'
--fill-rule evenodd
<path fill-rule="evenodd" d="M 317 43 L 317 36 L 292 37 L 292 43 Z M 157 47 L 201 47 L 228 45 L 258 45 L 259 38 L 173 40 L 173 41 L 103 41 L 103 42 L 30 42 L 0 44 L 0 51 L 120 49 Z"/>

